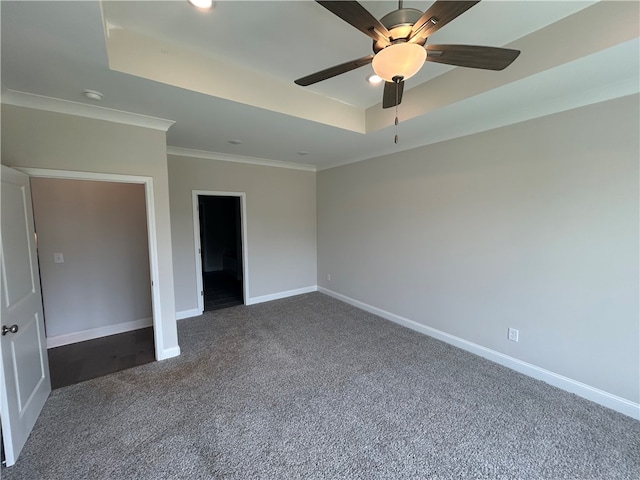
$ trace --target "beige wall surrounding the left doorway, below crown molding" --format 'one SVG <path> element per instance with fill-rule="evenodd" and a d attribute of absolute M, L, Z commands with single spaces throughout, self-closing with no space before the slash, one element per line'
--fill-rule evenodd
<path fill-rule="evenodd" d="M 158 255 L 156 355 L 178 355 L 164 131 L 2 105 L 2 163 L 150 177 Z M 159 343 L 158 343 L 159 340 Z"/>

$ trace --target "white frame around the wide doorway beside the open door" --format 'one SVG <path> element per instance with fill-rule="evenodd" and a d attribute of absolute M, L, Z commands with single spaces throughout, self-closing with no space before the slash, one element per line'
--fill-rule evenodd
<path fill-rule="evenodd" d="M 156 360 L 163 352 L 162 315 L 160 311 L 160 282 L 158 281 L 158 236 L 156 232 L 155 203 L 153 197 L 153 178 L 115 173 L 78 172 L 71 170 L 49 170 L 43 168 L 13 167 L 30 177 L 58 178 L 65 180 L 90 180 L 94 182 L 137 183 L 144 185 L 147 236 L 149 240 L 149 270 L 151 276 L 151 309 L 153 315 L 153 341 Z"/>

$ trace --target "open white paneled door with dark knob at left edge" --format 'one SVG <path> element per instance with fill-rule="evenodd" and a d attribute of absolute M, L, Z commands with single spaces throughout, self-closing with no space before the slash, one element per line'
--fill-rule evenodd
<path fill-rule="evenodd" d="M 0 417 L 13 465 L 51 392 L 29 177 L 2 166 Z"/>

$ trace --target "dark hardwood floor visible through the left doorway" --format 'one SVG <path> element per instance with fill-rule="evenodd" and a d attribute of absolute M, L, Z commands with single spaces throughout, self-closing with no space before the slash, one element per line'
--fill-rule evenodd
<path fill-rule="evenodd" d="M 155 360 L 153 328 L 50 348 L 51 388 L 56 389 Z"/>

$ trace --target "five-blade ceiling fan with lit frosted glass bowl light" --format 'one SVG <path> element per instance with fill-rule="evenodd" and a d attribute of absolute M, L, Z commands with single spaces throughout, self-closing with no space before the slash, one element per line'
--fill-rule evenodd
<path fill-rule="evenodd" d="M 414 8 L 403 8 L 403 2 L 399 0 L 398 9 L 380 20 L 356 1 L 316 2 L 371 37 L 374 54 L 320 70 L 295 80 L 295 83 L 306 87 L 371 63 L 376 74 L 385 81 L 382 108 L 400 104 L 404 81 L 418 73 L 425 61 L 503 70 L 520 55 L 519 50 L 508 48 L 427 44 L 431 34 L 462 15 L 479 0 L 436 0 L 424 13 Z"/>

